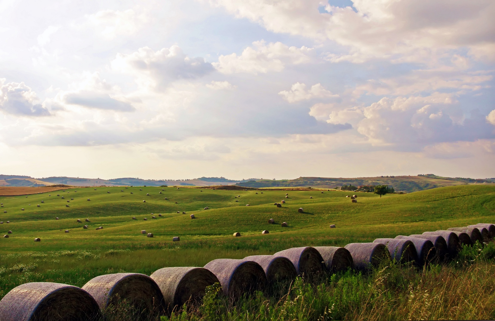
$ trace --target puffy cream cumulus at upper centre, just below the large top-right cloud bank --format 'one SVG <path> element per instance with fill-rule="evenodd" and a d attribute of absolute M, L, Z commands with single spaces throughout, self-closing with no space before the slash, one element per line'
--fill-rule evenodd
<path fill-rule="evenodd" d="M 212 65 L 223 74 L 233 73 L 267 73 L 282 71 L 287 64 L 302 64 L 311 61 L 312 48 L 286 46 L 280 42 L 269 43 L 255 41 L 253 47 L 244 49 L 241 55 L 232 53 L 220 55 L 218 62 Z"/>

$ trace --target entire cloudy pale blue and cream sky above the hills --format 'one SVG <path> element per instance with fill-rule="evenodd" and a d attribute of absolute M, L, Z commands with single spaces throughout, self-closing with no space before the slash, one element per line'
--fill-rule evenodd
<path fill-rule="evenodd" d="M 0 174 L 495 177 L 493 0 L 1 0 Z"/>

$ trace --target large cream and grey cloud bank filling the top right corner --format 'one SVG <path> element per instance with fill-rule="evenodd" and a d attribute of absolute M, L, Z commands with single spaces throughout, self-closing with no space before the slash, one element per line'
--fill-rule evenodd
<path fill-rule="evenodd" d="M 238 18 L 257 22 L 267 30 L 331 40 L 346 46 L 345 53 L 330 53 L 332 62 L 361 63 L 370 58 L 396 61 L 431 61 L 432 55 L 453 47 L 472 48 L 478 57 L 495 57 L 487 50 L 495 43 L 490 0 L 353 0 L 353 7 L 320 0 L 210 0 Z M 438 14 L 442 12 L 442 14 Z"/>

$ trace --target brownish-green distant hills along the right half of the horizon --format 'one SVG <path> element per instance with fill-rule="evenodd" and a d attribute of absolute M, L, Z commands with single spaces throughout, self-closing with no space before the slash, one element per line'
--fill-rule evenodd
<path fill-rule="evenodd" d="M 321 188 L 336 188 L 344 185 L 356 187 L 362 185 L 389 185 L 395 190 L 403 192 L 414 192 L 418 190 L 444 187 L 452 185 L 462 185 L 468 183 L 495 183 L 495 179 L 469 179 L 469 178 L 447 178 L 433 174 L 418 176 L 381 176 L 381 177 L 361 177 L 361 178 L 325 178 L 325 177 L 299 177 L 295 180 L 250 180 L 237 183 L 238 186 L 245 187 L 297 187 L 311 186 Z"/>

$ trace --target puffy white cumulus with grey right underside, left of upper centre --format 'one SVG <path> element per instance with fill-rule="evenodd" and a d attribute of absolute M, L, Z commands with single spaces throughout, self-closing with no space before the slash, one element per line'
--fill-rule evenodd
<path fill-rule="evenodd" d="M 179 46 L 153 51 L 139 48 L 131 54 L 118 53 L 111 62 L 115 71 L 135 76 L 144 87 L 167 86 L 180 79 L 195 79 L 214 69 L 201 57 L 188 57 Z"/>

